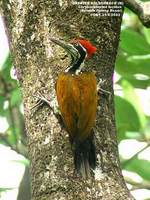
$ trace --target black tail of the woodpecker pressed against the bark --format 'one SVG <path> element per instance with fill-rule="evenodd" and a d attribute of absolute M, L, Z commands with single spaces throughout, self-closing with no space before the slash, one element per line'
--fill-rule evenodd
<path fill-rule="evenodd" d="M 88 177 L 96 167 L 96 152 L 93 134 L 84 141 L 74 140 L 73 142 L 74 165 L 78 174 Z"/>

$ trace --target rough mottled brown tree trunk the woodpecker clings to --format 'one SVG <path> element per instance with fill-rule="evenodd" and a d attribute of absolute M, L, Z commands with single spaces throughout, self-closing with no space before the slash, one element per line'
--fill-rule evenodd
<path fill-rule="evenodd" d="M 109 2 L 109 1 L 108 1 Z M 112 2 L 112 0 L 111 0 Z M 70 0 L 2 0 L 4 21 L 23 94 L 32 200 L 134 199 L 121 174 L 115 128 L 113 72 L 119 43 L 120 17 L 92 17 L 81 13 Z M 97 168 L 95 177 L 74 175 L 68 134 L 48 106 L 32 115 L 37 91 L 52 100 L 57 75 L 69 60 L 49 37 L 69 41 L 86 38 L 97 54 L 86 69 L 112 95 L 100 95 L 94 127 Z"/>

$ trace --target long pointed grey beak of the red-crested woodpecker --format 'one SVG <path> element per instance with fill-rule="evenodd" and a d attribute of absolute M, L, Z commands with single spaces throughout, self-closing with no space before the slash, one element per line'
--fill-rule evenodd
<path fill-rule="evenodd" d="M 78 50 L 72 44 L 65 43 L 64 41 L 58 40 L 56 38 L 50 38 L 50 40 L 62 47 L 74 61 L 79 59 L 80 55 L 78 53 Z"/>

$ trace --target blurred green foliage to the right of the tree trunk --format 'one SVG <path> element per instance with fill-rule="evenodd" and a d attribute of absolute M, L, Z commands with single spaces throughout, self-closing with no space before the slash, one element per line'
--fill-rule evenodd
<path fill-rule="evenodd" d="M 137 89 L 150 87 L 150 29 L 144 28 L 131 11 L 127 10 L 126 15 L 133 21 L 130 24 L 123 21 L 115 68 L 119 75 L 115 85 L 121 88 L 119 96 L 115 96 L 118 141 L 135 139 L 149 147 L 150 116 L 143 111 Z M 150 181 L 150 160 L 139 159 L 139 153 L 136 152 L 129 160 L 122 159 L 122 168 L 137 173 L 143 182 Z"/>

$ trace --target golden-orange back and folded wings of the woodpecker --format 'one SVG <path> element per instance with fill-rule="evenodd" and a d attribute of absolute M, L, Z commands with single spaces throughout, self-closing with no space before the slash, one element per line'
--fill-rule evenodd
<path fill-rule="evenodd" d="M 94 73 L 60 74 L 56 82 L 59 109 L 70 137 L 84 140 L 94 126 L 97 108 Z"/>

